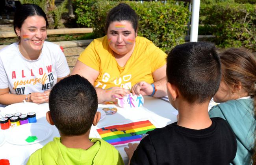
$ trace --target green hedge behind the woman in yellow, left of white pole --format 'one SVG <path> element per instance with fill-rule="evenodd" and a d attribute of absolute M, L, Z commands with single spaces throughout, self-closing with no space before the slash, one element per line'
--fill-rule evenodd
<path fill-rule="evenodd" d="M 163 51 L 171 50 L 177 44 L 184 43 L 189 19 L 188 7 L 184 3 L 124 1 L 139 16 L 138 35 L 144 36 Z M 120 2 L 76 0 L 75 13 L 77 23 L 93 27 L 96 36 L 104 36 L 104 25 L 108 11 Z"/>

